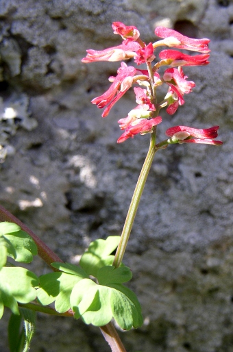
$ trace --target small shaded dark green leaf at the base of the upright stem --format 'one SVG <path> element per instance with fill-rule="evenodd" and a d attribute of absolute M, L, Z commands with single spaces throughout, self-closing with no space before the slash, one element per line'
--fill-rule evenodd
<path fill-rule="evenodd" d="M 127 266 L 115 268 L 114 266 L 103 266 L 97 271 L 99 285 L 122 284 L 132 279 L 132 271 Z"/>

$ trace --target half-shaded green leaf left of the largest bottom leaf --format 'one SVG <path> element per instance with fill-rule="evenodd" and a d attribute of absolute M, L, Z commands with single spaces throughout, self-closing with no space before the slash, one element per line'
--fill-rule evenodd
<path fill-rule="evenodd" d="M 54 263 L 53 263 L 54 264 Z M 81 273 L 71 275 L 68 273 L 49 273 L 40 276 L 40 288 L 37 290 L 38 300 L 42 305 L 55 301 L 58 312 L 64 313 L 71 307 L 70 295 L 73 287 L 85 276 Z"/>

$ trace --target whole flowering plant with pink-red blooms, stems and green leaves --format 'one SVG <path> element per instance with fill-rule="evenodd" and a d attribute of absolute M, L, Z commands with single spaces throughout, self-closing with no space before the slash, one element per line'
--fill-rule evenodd
<path fill-rule="evenodd" d="M 140 304 L 134 292 L 123 285 L 132 278 L 130 268 L 122 263 L 123 255 L 130 237 L 134 218 L 147 175 L 155 153 L 169 144 L 204 143 L 221 145 L 216 140 L 219 126 L 197 129 L 188 126 L 171 126 L 167 137 L 156 143 L 157 125 L 162 123 L 160 110 L 166 108 L 169 115 L 174 114 L 184 104 L 184 95 L 192 92 L 193 81 L 188 81 L 182 66 L 204 66 L 208 64 L 210 50 L 208 39 L 193 39 L 175 32 L 173 29 L 157 27 L 155 34 L 160 40 L 145 44 L 134 26 L 121 22 L 112 24 L 114 34 L 123 38 L 121 45 L 102 51 L 87 50 L 82 62 L 123 61 L 134 59 L 134 66 L 121 62 L 116 77 L 110 77 L 112 83 L 103 95 L 92 103 L 108 116 L 112 106 L 125 95 L 134 84 L 136 107 L 127 116 L 119 119 L 123 134 L 117 142 L 125 142 L 137 134 L 150 134 L 149 151 L 140 172 L 136 188 L 127 213 L 125 225 L 119 236 L 110 236 L 106 240 L 95 240 L 82 255 L 79 265 L 63 263 L 30 229 L 0 205 L 0 318 L 4 306 L 12 310 L 9 325 L 11 351 L 26 352 L 32 340 L 35 316 L 28 312 L 44 312 L 58 316 L 82 318 L 84 323 L 100 327 L 103 336 L 112 351 L 125 351 L 111 320 L 114 318 L 122 329 L 140 327 L 143 324 Z M 155 50 L 160 46 L 196 51 L 197 55 L 188 55 L 178 50 L 160 51 L 157 62 Z M 145 64 L 147 68 L 138 68 Z M 160 75 L 161 66 L 169 66 Z M 158 101 L 157 88 L 164 84 L 167 94 Z M 112 252 L 116 250 L 116 254 Z M 31 271 L 21 267 L 8 267 L 8 257 L 16 262 L 32 262 L 39 254 L 52 273 L 37 277 Z M 51 307 L 54 303 L 54 307 Z M 19 316 L 20 318 L 16 318 Z M 24 334 L 14 326 L 24 321 Z M 23 338 L 23 336 L 25 336 Z"/>

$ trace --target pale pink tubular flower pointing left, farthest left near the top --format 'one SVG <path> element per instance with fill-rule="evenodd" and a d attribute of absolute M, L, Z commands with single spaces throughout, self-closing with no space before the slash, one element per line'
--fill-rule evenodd
<path fill-rule="evenodd" d="M 117 47 L 111 47 L 104 50 L 87 50 L 86 58 L 82 59 L 82 62 L 88 64 L 88 62 L 95 61 L 121 61 L 134 58 L 135 52 L 140 49 L 138 42 L 127 42 L 126 44 L 118 45 Z"/>

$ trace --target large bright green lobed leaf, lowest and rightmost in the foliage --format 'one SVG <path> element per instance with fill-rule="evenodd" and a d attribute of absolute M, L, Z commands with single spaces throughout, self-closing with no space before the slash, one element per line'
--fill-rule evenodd
<path fill-rule="evenodd" d="M 71 307 L 74 317 L 81 317 L 86 324 L 102 326 L 114 317 L 122 329 L 128 330 L 143 323 L 135 294 L 121 284 L 103 286 L 83 279 L 72 290 Z"/>

